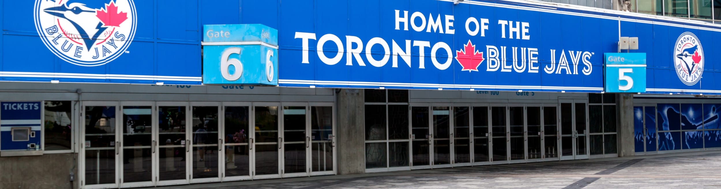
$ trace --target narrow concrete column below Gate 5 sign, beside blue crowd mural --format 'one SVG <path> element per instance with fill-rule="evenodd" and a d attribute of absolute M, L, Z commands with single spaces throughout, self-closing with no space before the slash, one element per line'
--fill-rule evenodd
<path fill-rule="evenodd" d="M 619 157 L 632 157 L 635 155 L 633 131 L 633 94 L 617 94 L 618 106 L 618 147 Z"/>

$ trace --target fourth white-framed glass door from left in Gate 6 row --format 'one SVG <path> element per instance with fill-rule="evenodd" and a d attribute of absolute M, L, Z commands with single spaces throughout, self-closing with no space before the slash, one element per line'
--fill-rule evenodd
<path fill-rule="evenodd" d="M 220 181 L 223 139 L 219 138 L 218 102 L 192 102 L 191 121 L 192 136 L 190 136 L 191 167 L 190 183 L 207 183 Z"/>

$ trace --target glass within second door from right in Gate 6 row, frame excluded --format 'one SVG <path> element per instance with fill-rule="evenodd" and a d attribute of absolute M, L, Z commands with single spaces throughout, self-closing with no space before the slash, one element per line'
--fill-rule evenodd
<path fill-rule="evenodd" d="M 283 107 L 283 137 L 283 172 L 307 172 L 306 149 L 310 137 L 306 136 L 306 107 Z"/>

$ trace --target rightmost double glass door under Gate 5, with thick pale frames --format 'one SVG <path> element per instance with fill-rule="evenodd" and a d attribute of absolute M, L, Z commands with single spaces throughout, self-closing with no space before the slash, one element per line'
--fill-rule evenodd
<path fill-rule="evenodd" d="M 588 105 L 586 100 L 559 100 L 561 160 L 588 159 Z"/>

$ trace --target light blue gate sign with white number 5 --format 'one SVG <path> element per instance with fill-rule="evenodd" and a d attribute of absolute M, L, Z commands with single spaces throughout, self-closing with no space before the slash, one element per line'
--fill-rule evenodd
<path fill-rule="evenodd" d="M 605 92 L 646 92 L 646 53 L 604 53 Z"/>

